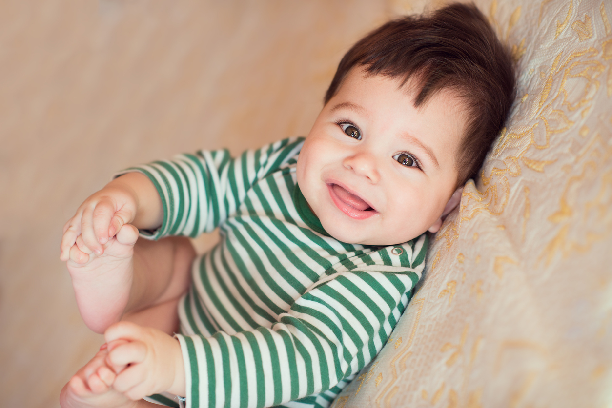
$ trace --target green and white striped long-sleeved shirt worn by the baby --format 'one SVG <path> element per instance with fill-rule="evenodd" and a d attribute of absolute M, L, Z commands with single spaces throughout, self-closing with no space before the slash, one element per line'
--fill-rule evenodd
<path fill-rule="evenodd" d="M 179 305 L 187 407 L 329 406 L 386 343 L 420 278 L 425 235 L 371 247 L 327 234 L 296 184 L 303 142 L 129 169 L 163 202 L 162 226 L 144 236 L 220 228 Z"/>

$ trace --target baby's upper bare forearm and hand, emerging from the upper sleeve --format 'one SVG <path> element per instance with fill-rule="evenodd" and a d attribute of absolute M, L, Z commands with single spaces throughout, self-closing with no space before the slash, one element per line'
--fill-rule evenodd
<path fill-rule="evenodd" d="M 86 262 L 88 253 L 104 252 L 103 245 L 123 224 L 152 229 L 162 224 L 162 218 L 162 201 L 151 180 L 138 172 L 124 174 L 89 196 L 64 225 L 59 258 L 68 261 L 70 248 L 78 243 L 76 249 L 84 250 L 79 255 Z"/>

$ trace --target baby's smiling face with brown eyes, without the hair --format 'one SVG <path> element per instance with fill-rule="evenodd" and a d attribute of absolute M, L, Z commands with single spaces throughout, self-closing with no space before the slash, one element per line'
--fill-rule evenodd
<path fill-rule="evenodd" d="M 300 152 L 300 190 L 342 242 L 394 245 L 436 232 L 455 190 L 463 105 L 443 90 L 417 109 L 411 83 L 399 85 L 353 69 Z"/>

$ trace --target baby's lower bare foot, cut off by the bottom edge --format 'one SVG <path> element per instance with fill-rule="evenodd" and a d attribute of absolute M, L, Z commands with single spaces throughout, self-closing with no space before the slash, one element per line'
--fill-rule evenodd
<path fill-rule="evenodd" d="M 59 395 L 62 408 L 133 408 L 131 401 L 111 385 L 116 377 L 105 363 L 108 351 L 101 349 L 89 363 L 76 372 Z"/>

